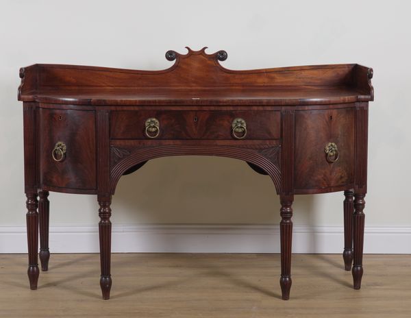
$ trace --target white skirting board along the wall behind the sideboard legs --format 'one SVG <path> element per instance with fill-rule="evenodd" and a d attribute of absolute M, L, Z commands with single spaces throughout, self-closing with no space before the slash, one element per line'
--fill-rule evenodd
<path fill-rule="evenodd" d="M 0 253 L 27 253 L 25 227 L 0 226 Z M 341 253 L 342 226 L 294 225 L 293 253 Z M 411 254 L 411 227 L 366 227 L 364 253 Z M 51 253 L 99 252 L 97 225 L 51 226 Z M 113 225 L 112 252 L 279 253 L 279 225 Z"/>

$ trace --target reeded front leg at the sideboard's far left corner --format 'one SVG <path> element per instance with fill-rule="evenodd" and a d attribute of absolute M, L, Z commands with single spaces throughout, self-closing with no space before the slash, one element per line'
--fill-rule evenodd
<path fill-rule="evenodd" d="M 27 206 L 27 245 L 29 252 L 29 268 L 27 275 L 29 276 L 30 289 L 37 289 L 38 275 L 38 201 L 37 193 L 26 193 Z"/>

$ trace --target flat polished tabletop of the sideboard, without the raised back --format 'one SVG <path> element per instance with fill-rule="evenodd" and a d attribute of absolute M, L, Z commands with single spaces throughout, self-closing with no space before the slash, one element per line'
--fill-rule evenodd
<path fill-rule="evenodd" d="M 23 101 L 77 105 L 319 105 L 369 98 L 347 86 L 260 87 L 53 87 L 29 92 Z"/>

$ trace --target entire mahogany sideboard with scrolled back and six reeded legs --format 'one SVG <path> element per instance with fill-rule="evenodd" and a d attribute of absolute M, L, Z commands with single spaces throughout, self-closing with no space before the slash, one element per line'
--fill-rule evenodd
<path fill-rule="evenodd" d="M 280 196 L 282 298 L 291 286 L 294 195 L 344 191 L 345 270 L 360 289 L 368 107 L 358 64 L 233 71 L 225 51 L 180 54 L 162 71 L 34 64 L 20 70 L 28 276 L 49 262 L 49 191 L 97 195 L 103 299 L 109 299 L 111 199 L 121 175 L 164 156 L 244 160 Z"/>

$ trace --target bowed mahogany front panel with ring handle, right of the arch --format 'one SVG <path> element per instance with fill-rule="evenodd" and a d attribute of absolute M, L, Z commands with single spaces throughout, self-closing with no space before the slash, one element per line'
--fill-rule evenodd
<path fill-rule="evenodd" d="M 301 191 L 304 189 L 336 191 L 338 187 L 353 184 L 354 120 L 354 108 L 296 112 L 295 188 L 297 193 L 304 193 Z M 325 146 L 329 143 L 334 143 L 337 151 L 336 154 L 327 157 Z M 306 192 L 310 193 L 310 191 Z"/>

